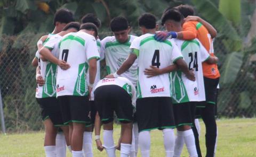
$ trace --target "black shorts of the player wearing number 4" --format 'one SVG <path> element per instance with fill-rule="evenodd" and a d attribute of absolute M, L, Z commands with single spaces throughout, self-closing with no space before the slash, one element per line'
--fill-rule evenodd
<path fill-rule="evenodd" d="M 136 101 L 139 132 L 175 128 L 171 97 L 148 97 Z"/>

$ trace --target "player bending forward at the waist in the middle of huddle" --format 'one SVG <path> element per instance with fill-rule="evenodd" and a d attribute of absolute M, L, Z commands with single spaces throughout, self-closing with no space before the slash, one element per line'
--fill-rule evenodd
<path fill-rule="evenodd" d="M 103 127 L 113 128 L 113 116 L 116 112 L 121 123 L 121 157 L 128 157 L 132 143 L 133 108 L 136 101 L 136 90 L 131 81 L 125 77 L 103 79 L 95 86 L 95 105 L 97 106 Z M 133 107 L 134 106 L 134 107 Z M 114 143 L 114 139 L 104 141 L 105 145 Z M 115 151 L 108 156 L 116 156 Z"/>

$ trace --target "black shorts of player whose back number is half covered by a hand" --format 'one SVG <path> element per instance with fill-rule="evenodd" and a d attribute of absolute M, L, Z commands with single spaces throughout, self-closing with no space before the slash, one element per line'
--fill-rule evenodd
<path fill-rule="evenodd" d="M 64 124 L 70 122 L 91 124 L 91 107 L 87 96 L 64 95 L 59 96 L 58 101 Z"/>

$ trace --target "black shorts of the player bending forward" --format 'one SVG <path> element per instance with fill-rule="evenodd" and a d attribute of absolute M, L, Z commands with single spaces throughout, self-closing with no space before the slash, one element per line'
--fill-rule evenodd
<path fill-rule="evenodd" d="M 114 111 L 121 123 L 133 121 L 131 95 L 118 85 L 103 85 L 94 91 L 94 103 L 103 124 L 114 120 Z"/>

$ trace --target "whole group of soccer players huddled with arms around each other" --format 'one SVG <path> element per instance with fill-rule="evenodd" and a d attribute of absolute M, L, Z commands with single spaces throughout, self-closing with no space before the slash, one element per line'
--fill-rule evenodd
<path fill-rule="evenodd" d="M 217 31 L 194 16 L 193 7 L 167 8 L 157 31 L 153 14 L 138 19 L 142 36 L 131 34 L 124 17 L 113 18 L 114 36 L 98 37 L 100 20 L 86 14 L 82 23 L 73 13 L 55 13 L 52 33 L 37 42 L 32 64 L 36 99 L 45 126 L 46 156 L 93 156 L 97 149 L 113 157 L 150 156 L 150 130 L 163 132 L 166 156 L 180 156 L 184 143 L 190 157 L 202 156 L 198 116 L 206 127 L 206 156 L 215 156 L 215 108 L 219 83 L 218 58 L 213 54 Z M 108 75 L 100 80 L 100 60 Z M 114 144 L 114 111 L 121 134 Z M 100 129 L 103 125 L 103 145 Z M 177 135 L 174 135 L 177 128 Z M 154 155 L 152 155 L 154 156 Z"/>

